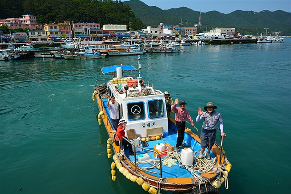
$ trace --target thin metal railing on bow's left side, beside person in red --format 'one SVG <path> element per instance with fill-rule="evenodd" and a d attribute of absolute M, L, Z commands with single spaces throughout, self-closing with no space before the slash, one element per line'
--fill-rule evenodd
<path fill-rule="evenodd" d="M 117 136 L 118 138 L 118 136 Z M 119 139 L 119 138 L 118 138 Z M 150 149 L 146 149 L 144 147 L 141 147 L 141 146 L 137 146 L 135 144 L 133 144 L 131 141 L 129 141 L 127 138 L 124 138 L 124 137 L 121 137 L 121 139 L 127 141 L 131 146 L 133 146 L 134 148 L 134 163 L 131 162 L 130 160 L 128 160 L 129 162 L 131 162 L 134 166 L 135 166 L 135 172 L 137 172 L 137 169 L 140 169 L 142 171 L 146 171 L 146 172 L 149 172 L 149 173 L 154 173 L 154 174 L 160 174 L 160 178 L 162 178 L 162 160 L 161 160 L 161 156 L 158 152 L 154 151 L 154 150 L 150 150 Z M 122 141 L 119 140 L 119 152 L 121 150 L 121 147 L 122 147 Z M 158 155 L 158 158 L 159 158 L 159 169 L 160 169 L 160 172 L 154 172 L 154 171 L 150 171 L 150 170 L 147 170 L 146 168 L 142 168 L 142 167 L 139 167 L 137 165 L 137 161 L 136 161 L 136 147 L 140 148 L 140 149 L 143 149 L 143 150 L 146 150 L 146 151 L 149 151 L 149 152 L 153 152 L 153 153 L 156 153 Z"/>

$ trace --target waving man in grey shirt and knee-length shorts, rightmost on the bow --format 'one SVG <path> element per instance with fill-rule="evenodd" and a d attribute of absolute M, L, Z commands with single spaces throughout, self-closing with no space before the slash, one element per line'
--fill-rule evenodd
<path fill-rule="evenodd" d="M 217 106 L 214 105 L 213 102 L 208 102 L 206 106 L 204 107 L 204 110 L 206 112 L 203 112 L 201 107 L 198 109 L 198 116 L 196 118 L 196 122 L 201 121 L 204 119 L 202 130 L 201 130 L 201 151 L 198 156 L 198 159 L 202 159 L 203 153 L 205 151 L 205 148 L 208 148 L 206 158 L 208 160 L 211 159 L 210 150 L 212 146 L 215 143 L 215 137 L 216 137 L 216 128 L 217 124 L 219 122 L 220 127 L 220 135 L 225 137 L 226 134 L 223 132 L 223 120 L 221 118 L 220 113 L 214 111 L 214 109 L 217 109 Z"/>

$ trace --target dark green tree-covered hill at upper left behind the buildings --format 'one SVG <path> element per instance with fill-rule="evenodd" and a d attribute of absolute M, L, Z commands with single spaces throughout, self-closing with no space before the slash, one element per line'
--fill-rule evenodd
<path fill-rule="evenodd" d="M 127 24 L 142 29 L 130 7 L 115 0 L 0 0 L 0 18 L 35 15 L 39 24 L 74 21 L 104 24 Z"/>

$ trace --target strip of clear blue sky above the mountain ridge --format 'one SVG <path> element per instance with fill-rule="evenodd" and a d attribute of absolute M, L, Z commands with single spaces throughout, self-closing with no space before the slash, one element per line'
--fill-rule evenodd
<path fill-rule="evenodd" d="M 129 1 L 129 0 L 121 0 Z M 157 6 L 162 10 L 188 7 L 194 11 L 219 11 L 229 14 L 235 10 L 255 11 L 283 10 L 291 12 L 291 0 L 140 0 L 148 6 Z"/>

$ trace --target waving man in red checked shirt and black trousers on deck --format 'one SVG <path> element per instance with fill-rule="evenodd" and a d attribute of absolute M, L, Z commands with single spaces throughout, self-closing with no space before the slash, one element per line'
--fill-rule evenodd
<path fill-rule="evenodd" d="M 188 121 L 190 121 L 193 127 L 195 127 L 195 125 L 193 124 L 193 120 L 190 114 L 185 109 L 185 105 L 186 105 L 185 100 L 181 100 L 179 103 L 180 107 L 176 108 L 176 105 L 178 103 L 179 103 L 178 98 L 176 98 L 175 103 L 172 106 L 172 111 L 175 113 L 176 127 L 177 127 L 177 133 L 178 133 L 176 149 L 177 151 L 180 151 L 179 146 L 181 145 L 184 146 L 183 140 L 184 140 L 184 132 L 186 128 L 186 118 L 188 119 Z"/>

